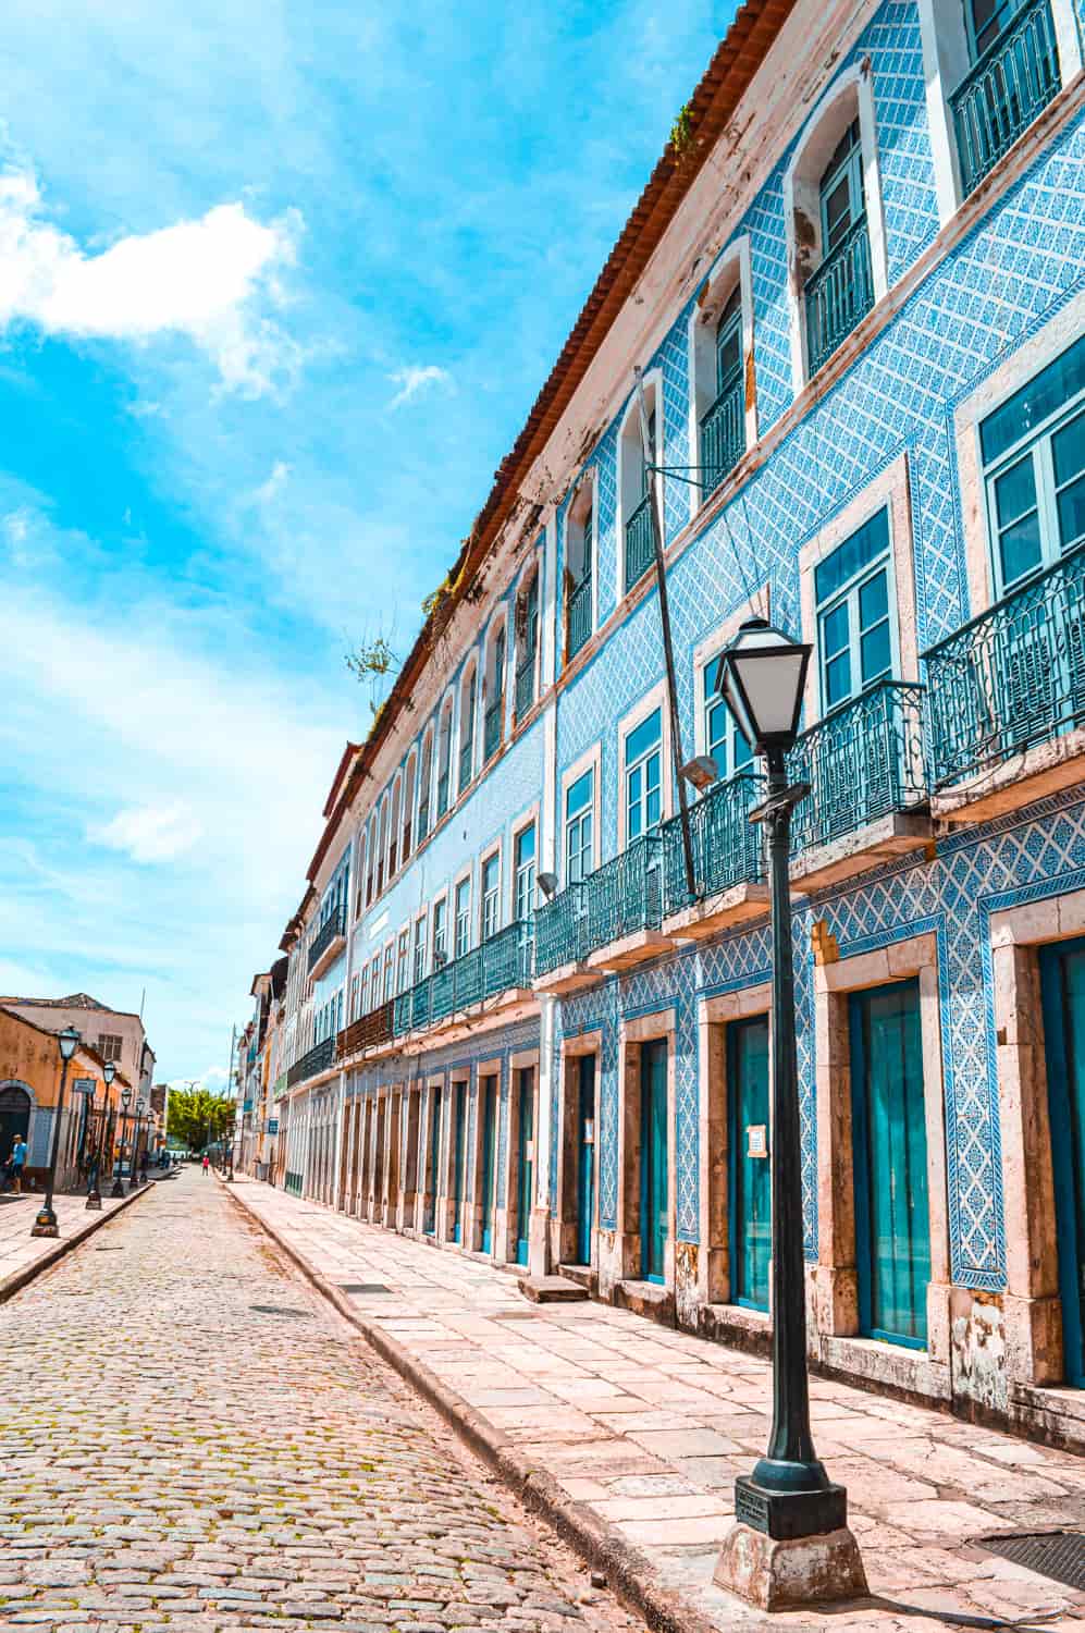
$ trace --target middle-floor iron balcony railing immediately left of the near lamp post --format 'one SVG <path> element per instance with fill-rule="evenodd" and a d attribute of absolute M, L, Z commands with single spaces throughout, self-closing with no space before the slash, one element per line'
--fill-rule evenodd
<path fill-rule="evenodd" d="M 765 877 L 765 852 L 760 828 L 749 813 L 764 797 L 762 777 L 741 771 L 726 782 L 716 782 L 697 805 L 690 805 L 690 844 L 697 901 L 720 895 L 733 885 L 760 883 Z M 685 877 L 682 818 L 662 825 L 664 846 L 664 916 L 690 905 Z"/>

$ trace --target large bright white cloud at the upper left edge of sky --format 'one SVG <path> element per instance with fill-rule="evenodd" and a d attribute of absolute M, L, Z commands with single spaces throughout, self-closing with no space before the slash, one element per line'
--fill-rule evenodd
<path fill-rule="evenodd" d="M 294 265 L 300 229 L 295 211 L 264 224 L 243 204 L 219 204 L 88 255 L 44 217 L 33 171 L 10 168 L 0 175 L 0 327 L 127 341 L 188 335 L 224 389 L 259 395 L 300 363 L 268 315 L 284 304 L 279 274 Z"/>

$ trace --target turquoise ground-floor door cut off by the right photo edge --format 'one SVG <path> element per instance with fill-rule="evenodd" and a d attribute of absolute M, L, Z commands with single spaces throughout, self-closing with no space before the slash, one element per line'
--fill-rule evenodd
<path fill-rule="evenodd" d="M 1085 941 L 1039 952 L 1067 1383 L 1085 1388 Z"/>

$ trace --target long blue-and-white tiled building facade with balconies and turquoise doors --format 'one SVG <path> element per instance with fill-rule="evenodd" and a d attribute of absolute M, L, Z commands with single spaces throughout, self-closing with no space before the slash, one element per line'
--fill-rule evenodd
<path fill-rule="evenodd" d="M 742 8 L 348 746 L 284 936 L 279 1101 L 292 1189 L 764 1346 L 760 768 L 715 683 L 768 616 L 813 647 L 811 1357 L 1067 1439 L 1083 10 Z"/>

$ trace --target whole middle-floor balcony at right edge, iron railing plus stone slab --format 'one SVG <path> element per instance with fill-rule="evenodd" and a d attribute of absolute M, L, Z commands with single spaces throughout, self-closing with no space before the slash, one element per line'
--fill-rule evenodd
<path fill-rule="evenodd" d="M 1080 779 L 1085 545 L 925 658 L 937 816 L 995 816 Z"/>

